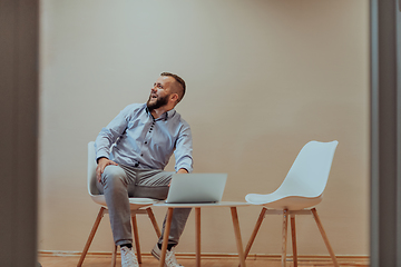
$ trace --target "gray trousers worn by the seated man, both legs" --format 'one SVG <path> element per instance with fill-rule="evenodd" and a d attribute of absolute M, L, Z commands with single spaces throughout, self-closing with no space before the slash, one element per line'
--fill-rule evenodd
<path fill-rule="evenodd" d="M 138 169 L 128 166 L 109 165 L 101 175 L 101 184 L 97 182 L 100 194 L 105 195 L 109 209 L 113 237 L 116 245 L 133 244 L 129 197 L 166 199 L 168 184 L 174 172 L 151 169 Z M 175 208 L 168 244 L 176 246 L 184 231 L 190 208 Z M 163 222 L 163 243 L 166 218 Z"/>

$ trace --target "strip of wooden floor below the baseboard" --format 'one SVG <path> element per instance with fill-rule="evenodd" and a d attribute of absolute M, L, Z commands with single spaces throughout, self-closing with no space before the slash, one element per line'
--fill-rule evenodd
<path fill-rule="evenodd" d="M 55 255 L 39 255 L 39 263 L 42 267 L 74 267 L 77 266 L 78 256 L 55 256 Z M 177 257 L 179 264 L 185 267 L 194 267 L 195 259 L 194 257 Z M 111 258 L 110 256 L 102 255 L 88 255 L 84 261 L 82 267 L 110 267 Z M 339 258 L 339 264 L 341 267 L 368 267 L 369 261 L 365 258 L 353 259 L 353 258 Z M 117 258 L 117 267 L 120 266 L 120 260 Z M 158 260 L 148 256 L 143 256 L 141 267 L 158 267 Z M 223 258 L 213 258 L 205 257 L 202 258 L 203 267 L 237 267 L 238 260 L 235 257 L 223 257 Z M 246 259 L 247 267 L 281 267 L 281 260 L 277 257 L 272 258 L 248 258 Z M 293 263 L 291 260 L 287 261 L 286 267 L 293 267 Z M 330 267 L 333 266 L 330 259 L 300 259 L 300 267 Z"/>

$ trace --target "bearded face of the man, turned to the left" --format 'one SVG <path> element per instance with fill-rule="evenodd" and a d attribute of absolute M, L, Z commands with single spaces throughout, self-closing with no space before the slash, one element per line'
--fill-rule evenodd
<path fill-rule="evenodd" d="M 156 80 L 154 87 L 150 89 L 149 99 L 146 102 L 150 111 L 168 103 L 173 81 L 174 78 L 169 76 L 162 76 Z"/>

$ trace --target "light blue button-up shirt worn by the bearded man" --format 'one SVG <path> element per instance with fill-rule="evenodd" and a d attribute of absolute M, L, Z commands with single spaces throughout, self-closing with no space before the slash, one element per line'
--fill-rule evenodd
<path fill-rule="evenodd" d="M 97 159 L 141 169 L 164 169 L 173 152 L 175 170 L 193 170 L 189 125 L 172 109 L 158 119 L 146 103 L 131 103 L 101 129 L 95 142 Z"/>

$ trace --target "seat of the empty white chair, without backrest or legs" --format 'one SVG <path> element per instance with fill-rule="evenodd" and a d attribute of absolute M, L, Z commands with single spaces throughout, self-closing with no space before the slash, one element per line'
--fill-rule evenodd
<path fill-rule="evenodd" d="M 282 196 L 280 194 L 248 194 L 245 200 L 253 205 L 262 205 L 273 209 L 299 210 L 313 207 L 322 201 L 322 195 L 317 197 Z"/>

